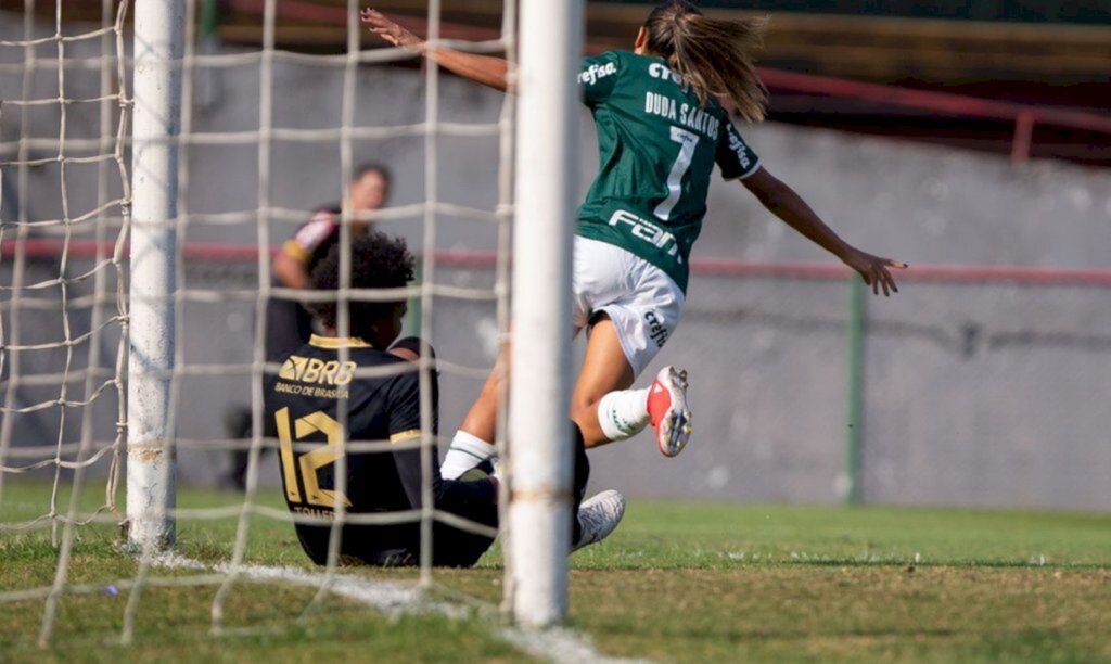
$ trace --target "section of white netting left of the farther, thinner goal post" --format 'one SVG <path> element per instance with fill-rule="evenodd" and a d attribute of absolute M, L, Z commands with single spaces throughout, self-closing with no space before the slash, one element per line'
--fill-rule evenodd
<path fill-rule="evenodd" d="M 121 425 L 123 420 L 121 330 L 127 312 L 121 255 L 130 204 L 122 141 L 128 117 L 120 56 L 123 16 L 106 3 L 102 28 L 69 34 L 60 8 L 52 27 L 28 12 L 22 39 L 4 34 L 0 41 L 3 129 L 21 132 L 16 140 L 4 137 L 0 162 L 4 178 L 0 490 L 9 477 L 52 476 L 50 503 L 38 506 L 48 511 L 0 529 L 49 525 L 56 544 L 60 525 L 79 523 L 74 504 L 59 505 L 60 492 L 69 482 L 79 486 L 87 469 L 111 465 L 107 501 L 97 513 L 116 507 L 121 435 L 114 426 L 93 424 L 98 408 L 111 406 L 108 412 L 120 413 L 113 419 Z M 51 33 L 42 36 L 49 28 Z M 46 49 L 56 56 L 46 58 Z M 73 70 L 98 74 L 99 94 L 70 91 Z M 57 80 L 51 97 L 43 90 L 47 73 Z M 81 89 L 89 90 L 89 82 Z M 11 93 L 16 90 L 21 94 Z M 47 134 L 51 130 L 52 137 Z M 77 195 L 68 185 L 74 178 L 86 183 Z M 43 189 L 53 195 L 32 193 Z M 106 352 L 111 350 L 116 352 Z M 53 426 L 43 424 L 48 421 Z"/>

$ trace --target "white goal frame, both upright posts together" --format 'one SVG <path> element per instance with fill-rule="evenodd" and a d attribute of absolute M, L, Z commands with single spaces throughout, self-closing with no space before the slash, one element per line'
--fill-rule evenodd
<path fill-rule="evenodd" d="M 433 4 L 438 4 L 433 1 Z M 137 0 L 127 513 L 133 546 L 174 540 L 173 221 L 184 0 Z M 509 440 L 507 604 L 517 622 L 567 616 L 570 253 L 577 174 L 574 77 L 582 0 L 521 0 Z M 542 128 L 542 129 L 539 129 Z M 504 493 L 503 493 L 504 495 Z"/>

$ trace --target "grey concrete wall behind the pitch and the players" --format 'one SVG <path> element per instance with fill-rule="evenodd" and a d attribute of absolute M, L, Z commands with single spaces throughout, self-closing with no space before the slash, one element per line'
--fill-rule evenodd
<path fill-rule="evenodd" d="M 80 54 L 81 44 L 73 44 Z M 11 53 L 4 53 L 4 57 Z M 41 72 L 37 94 L 57 94 L 53 71 Z M 363 68 L 357 80 L 357 125 L 421 122 L 423 78 L 417 72 Z M 92 95 L 97 76 L 74 72 L 67 94 Z M 192 129 L 229 132 L 258 127 L 257 66 L 198 76 Z M 0 98 L 18 99 L 18 77 L 0 77 Z M 341 73 L 280 64 L 276 70 L 278 127 L 334 127 L 340 119 Z M 493 122 L 501 98 L 453 79 L 441 81 L 443 121 Z M 97 117 L 70 108 L 69 135 L 96 135 Z M 37 107 L 33 134 L 58 135 L 57 107 Z M 19 114 L 0 119 L 3 160 L 18 134 Z M 582 118 L 582 187 L 595 171 L 589 118 Z M 1103 171 L 1060 163 L 1014 167 L 993 157 L 863 139 L 773 122 L 742 132 L 773 173 L 791 183 L 849 241 L 911 265 L 1015 264 L 1103 268 L 1111 248 L 1111 179 Z M 83 132 L 83 133 L 82 133 Z M 340 151 L 320 144 L 276 141 L 269 163 L 270 203 L 309 210 L 339 195 Z M 493 210 L 498 200 L 494 138 L 437 139 L 441 201 Z M 420 137 L 357 141 L 354 160 L 388 163 L 394 171 L 391 205 L 424 200 L 426 143 Z M 49 150 L 43 151 L 50 153 Z M 251 211 L 259 205 L 259 151 L 254 142 L 193 145 L 187 151 L 187 211 L 193 215 Z M 32 220 L 60 215 L 59 169 L 29 173 L 19 203 Z M 96 203 L 96 169 L 67 169 L 73 209 Z M 13 174 L 6 169 L 10 220 Z M 116 184 L 118 189 L 118 183 Z M 71 217 L 73 211 L 71 210 Z M 300 217 L 297 215 L 297 219 Z M 523 221 L 527 223 L 527 220 Z M 252 243 L 257 228 L 244 223 L 187 221 L 187 242 Z M 297 221 L 270 222 L 278 242 Z M 490 250 L 497 228 L 447 214 L 437 218 L 438 249 Z M 426 242 L 423 219 L 383 222 L 414 249 Z M 57 230 L 57 229 L 54 229 Z M 48 234 L 38 229 L 34 234 Z M 11 237 L 6 232 L 4 239 Z M 89 238 L 83 232 L 80 237 Z M 717 182 L 710 214 L 694 258 L 749 261 L 831 260 L 771 218 L 741 185 Z M 11 261 L 0 264 L 0 284 L 11 284 Z M 57 261 L 32 261 L 31 281 L 56 278 Z M 67 266 L 72 276 L 87 262 Z M 184 288 L 223 292 L 253 288 L 253 265 L 193 263 Z M 486 285 L 490 271 L 438 269 L 438 283 Z M 112 283 L 109 273 L 109 285 Z M 69 295 L 91 292 L 70 284 Z M 11 292 L 3 298 L 6 340 L 18 326 L 22 342 L 62 339 L 59 286 L 24 292 L 53 311 L 22 306 L 13 319 Z M 24 303 L 26 304 L 26 303 Z M 110 311 L 114 305 L 108 305 Z M 89 310 L 71 306 L 71 336 L 89 324 Z M 442 430 L 450 435 L 493 361 L 492 304 L 439 298 L 431 339 L 446 360 L 474 370 L 444 372 Z M 673 341 L 642 382 L 665 363 L 691 372 L 697 415 L 691 446 L 663 459 L 648 434 L 595 451 L 593 486 L 631 495 L 710 500 L 835 503 L 844 489 L 847 290 L 837 282 L 735 280 L 695 275 L 688 310 Z M 182 308 L 187 366 L 243 364 L 252 355 L 253 302 L 224 299 Z M 863 497 L 873 503 L 1111 507 L 1111 290 L 904 283 L 891 298 L 868 303 Z M 7 343 L 7 341 L 6 341 Z M 101 365 L 111 368 L 118 334 L 101 340 Z M 78 348 L 73 366 L 83 366 Z M 58 351 L 18 353 L 23 375 L 60 371 Z M 4 378 L 12 370 L 8 353 Z M 107 372 L 109 375 L 111 371 Z M 74 388 L 76 390 L 77 388 Z M 2 392 L 2 390 L 0 390 Z M 57 399 L 58 388 L 24 388 L 19 404 Z M 246 375 L 188 376 L 181 381 L 179 431 L 186 482 L 211 483 L 227 464 L 212 449 L 223 435 L 222 414 L 246 404 Z M 113 390 L 96 404 L 97 439 L 114 435 Z M 77 440 L 80 409 L 67 409 L 64 440 Z M 12 416 L 12 415 L 9 415 Z M 61 410 L 19 415 L 17 445 L 58 436 Z M 542 432 L 538 432 L 542 435 Z M 208 441 L 208 442 L 206 442 Z M 11 461 L 9 460 L 9 463 Z M 20 461 L 20 465 L 26 460 Z M 100 472 L 106 462 L 98 464 Z M 272 455 L 263 476 L 276 483 Z"/>

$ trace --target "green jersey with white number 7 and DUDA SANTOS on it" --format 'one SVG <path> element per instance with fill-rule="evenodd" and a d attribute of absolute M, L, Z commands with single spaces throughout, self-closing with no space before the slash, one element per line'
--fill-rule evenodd
<path fill-rule="evenodd" d="M 594 115 L 601 168 L 575 232 L 644 259 L 685 292 L 713 164 L 734 180 L 754 173 L 759 158 L 721 104 L 700 105 L 662 58 L 587 58 L 579 87 Z"/>

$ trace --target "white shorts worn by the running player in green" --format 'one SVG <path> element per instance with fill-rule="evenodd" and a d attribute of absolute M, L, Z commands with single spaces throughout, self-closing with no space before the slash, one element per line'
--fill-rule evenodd
<path fill-rule="evenodd" d="M 655 358 L 675 331 L 687 298 L 663 270 L 620 247 L 574 238 L 572 318 L 578 334 L 605 312 L 633 376 Z"/>

